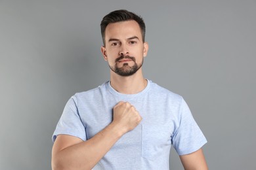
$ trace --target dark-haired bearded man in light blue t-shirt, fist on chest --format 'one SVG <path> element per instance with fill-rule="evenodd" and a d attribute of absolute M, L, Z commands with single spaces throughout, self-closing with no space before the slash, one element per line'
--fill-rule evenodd
<path fill-rule="evenodd" d="M 184 99 L 142 75 L 142 18 L 110 12 L 101 32 L 110 81 L 66 104 L 53 134 L 53 169 L 169 169 L 171 144 L 184 169 L 207 169 L 206 139 Z"/>

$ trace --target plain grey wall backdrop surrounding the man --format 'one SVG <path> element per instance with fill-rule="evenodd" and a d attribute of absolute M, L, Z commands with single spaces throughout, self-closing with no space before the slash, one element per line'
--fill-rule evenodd
<path fill-rule="evenodd" d="M 116 9 L 144 18 L 144 76 L 186 99 L 209 169 L 256 169 L 253 0 L 0 1 L 0 169 L 51 169 L 66 101 L 109 79 L 99 24 Z"/>

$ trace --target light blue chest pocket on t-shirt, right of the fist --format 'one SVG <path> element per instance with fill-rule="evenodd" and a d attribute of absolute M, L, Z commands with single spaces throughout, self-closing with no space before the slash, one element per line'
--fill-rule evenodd
<path fill-rule="evenodd" d="M 170 147 L 171 136 L 167 127 L 142 125 L 142 157 L 154 160 L 156 156 L 169 153 Z"/>

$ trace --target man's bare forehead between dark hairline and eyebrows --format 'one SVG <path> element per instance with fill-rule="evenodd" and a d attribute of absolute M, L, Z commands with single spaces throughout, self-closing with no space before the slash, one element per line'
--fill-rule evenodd
<path fill-rule="evenodd" d="M 115 22 L 108 24 L 106 27 L 105 37 L 108 39 L 125 39 L 129 37 L 139 37 L 142 39 L 140 26 L 135 20 L 129 20 L 124 22 Z"/>

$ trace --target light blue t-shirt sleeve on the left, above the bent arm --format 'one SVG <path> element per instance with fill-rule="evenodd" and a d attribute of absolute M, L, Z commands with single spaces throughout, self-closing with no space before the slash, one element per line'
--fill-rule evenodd
<path fill-rule="evenodd" d="M 79 137 L 83 141 L 87 140 L 85 126 L 83 126 L 83 122 L 81 122 L 81 118 L 79 116 L 77 98 L 75 95 L 68 100 L 64 107 L 62 116 L 60 117 L 53 133 L 53 142 L 57 135 L 72 135 L 74 137 Z"/>

